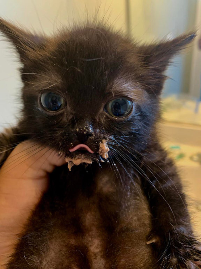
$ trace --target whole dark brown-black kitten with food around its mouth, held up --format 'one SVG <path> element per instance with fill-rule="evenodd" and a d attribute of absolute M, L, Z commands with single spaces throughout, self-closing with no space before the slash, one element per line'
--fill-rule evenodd
<path fill-rule="evenodd" d="M 138 46 L 102 25 L 55 37 L 2 19 L 0 29 L 24 82 L 23 116 L 1 136 L 2 161 L 30 139 L 68 162 L 50 175 L 7 268 L 196 268 L 185 195 L 155 126 L 164 71 L 195 35 Z"/>

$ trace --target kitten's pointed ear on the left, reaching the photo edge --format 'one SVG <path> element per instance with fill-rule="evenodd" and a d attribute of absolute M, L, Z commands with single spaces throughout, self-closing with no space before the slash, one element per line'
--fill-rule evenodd
<path fill-rule="evenodd" d="M 44 36 L 24 31 L 2 18 L 0 18 L 0 31 L 16 47 L 22 63 L 34 59 L 36 52 L 38 54 L 45 44 Z"/>

